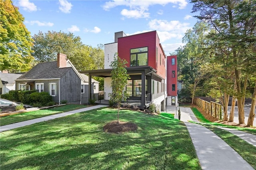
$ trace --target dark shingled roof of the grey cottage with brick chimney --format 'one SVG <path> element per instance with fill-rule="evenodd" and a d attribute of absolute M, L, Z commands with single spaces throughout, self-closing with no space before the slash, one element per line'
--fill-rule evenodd
<path fill-rule="evenodd" d="M 57 61 L 51 61 L 46 63 L 38 63 L 28 72 L 24 73 L 17 80 L 24 79 L 58 79 L 62 77 L 72 67 L 58 68 Z"/>

